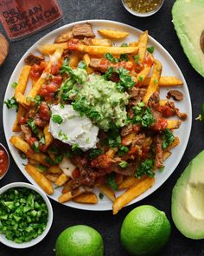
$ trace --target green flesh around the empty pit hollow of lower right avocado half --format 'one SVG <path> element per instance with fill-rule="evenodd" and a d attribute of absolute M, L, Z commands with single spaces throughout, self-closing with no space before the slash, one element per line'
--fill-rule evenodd
<path fill-rule="evenodd" d="M 204 239 L 204 219 L 197 220 L 194 218 L 188 212 L 185 200 L 188 186 L 193 184 L 196 187 L 198 183 L 204 188 L 204 150 L 200 154 L 197 154 L 190 161 L 188 167 L 185 168 L 173 188 L 171 199 L 171 214 L 175 226 L 184 236 L 193 240 Z M 204 189 L 202 189 L 202 193 L 204 199 Z"/>

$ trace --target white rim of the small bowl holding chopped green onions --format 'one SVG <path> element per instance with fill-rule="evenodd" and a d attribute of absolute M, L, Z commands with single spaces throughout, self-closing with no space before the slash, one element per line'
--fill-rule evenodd
<path fill-rule="evenodd" d="M 29 242 L 24 242 L 22 244 L 17 244 L 14 241 L 7 240 L 5 238 L 4 234 L 0 234 L 0 242 L 2 242 L 5 246 L 9 246 L 9 247 L 16 248 L 16 249 L 29 248 L 31 246 L 35 246 L 36 244 L 38 244 L 48 234 L 48 231 L 49 231 L 49 229 L 50 229 L 50 227 L 52 226 L 52 223 L 53 223 L 53 207 L 52 207 L 50 201 L 48 200 L 48 197 L 46 196 L 46 194 L 44 194 L 41 191 L 41 189 L 39 189 L 37 187 L 34 187 L 33 185 L 31 185 L 29 183 L 25 183 L 25 182 L 13 182 L 13 183 L 10 183 L 10 184 L 8 184 L 4 187 L 1 187 L 0 188 L 0 194 L 3 194 L 8 189 L 14 188 L 14 187 L 26 187 L 26 188 L 29 188 L 30 190 L 34 190 L 36 193 L 41 195 L 42 199 L 46 203 L 46 206 L 48 207 L 48 223 L 47 223 L 47 226 L 46 226 L 45 230 L 43 231 L 43 233 L 41 233 L 41 235 L 36 237 L 34 240 L 30 240 Z"/>

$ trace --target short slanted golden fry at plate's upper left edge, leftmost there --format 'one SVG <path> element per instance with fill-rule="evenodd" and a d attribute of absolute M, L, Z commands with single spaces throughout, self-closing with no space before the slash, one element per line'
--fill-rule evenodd
<path fill-rule="evenodd" d="M 29 71 L 30 71 L 30 69 L 31 69 L 31 67 L 28 66 L 28 65 L 25 65 L 22 68 L 22 72 L 21 72 L 20 77 L 18 79 L 15 94 L 14 94 L 15 98 L 16 98 L 17 93 L 22 93 L 22 95 L 24 94 L 26 86 L 27 86 L 27 82 L 29 80 Z"/>

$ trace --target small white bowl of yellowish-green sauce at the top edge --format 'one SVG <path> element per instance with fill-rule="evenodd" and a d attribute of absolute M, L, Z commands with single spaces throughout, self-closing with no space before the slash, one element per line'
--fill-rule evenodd
<path fill-rule="evenodd" d="M 151 16 L 163 6 L 164 0 L 122 0 L 124 8 L 134 16 Z"/>

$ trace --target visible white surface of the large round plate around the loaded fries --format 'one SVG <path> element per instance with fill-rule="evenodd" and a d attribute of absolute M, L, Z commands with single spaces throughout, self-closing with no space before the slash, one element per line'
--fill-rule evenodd
<path fill-rule="evenodd" d="M 13 74 L 10 77 L 10 82 L 8 84 L 6 93 L 5 93 L 5 99 L 7 100 L 8 98 L 12 97 L 14 94 L 14 89 L 10 86 L 12 82 L 16 82 L 18 80 L 18 76 L 20 74 L 20 70 L 22 69 L 23 66 L 23 60 L 25 56 L 29 54 L 29 52 L 34 52 L 37 49 L 38 46 L 40 46 L 43 43 L 53 43 L 54 38 L 58 35 L 60 35 L 62 32 L 66 30 L 71 30 L 73 25 L 79 24 L 79 23 L 85 23 L 86 21 L 82 22 L 77 22 L 77 23 L 71 23 L 67 24 L 57 30 L 54 30 L 48 35 L 43 36 L 38 42 L 36 42 L 26 53 L 24 56 L 22 56 L 22 59 L 18 64 L 16 65 L 16 69 L 14 70 Z M 141 30 L 137 30 L 129 25 L 123 24 L 123 23 L 117 23 L 117 22 L 112 22 L 112 21 L 105 21 L 105 20 L 90 20 L 87 21 L 89 23 L 92 23 L 93 30 L 96 32 L 96 35 L 98 35 L 97 30 L 99 29 L 112 29 L 112 30 L 124 30 L 126 32 L 130 33 L 130 36 L 124 41 L 125 43 L 129 43 L 132 41 L 137 41 L 138 36 L 141 33 Z M 117 44 L 117 43 L 116 43 Z M 119 43 L 119 45 L 121 42 Z M 185 82 L 185 79 L 182 75 L 181 70 L 175 63 L 174 59 L 169 55 L 166 49 L 163 48 L 163 46 L 160 43 L 157 43 L 155 39 L 150 37 L 149 39 L 149 44 L 150 46 L 155 47 L 155 52 L 154 56 L 158 58 L 162 63 L 163 63 L 163 74 L 162 75 L 175 75 L 177 78 L 181 79 L 183 81 L 183 86 L 180 88 L 182 90 L 183 94 L 185 95 L 184 101 L 182 102 L 176 102 L 176 106 L 180 108 L 182 112 L 186 112 L 188 114 L 188 119 L 187 121 L 182 122 L 182 126 L 180 129 L 175 130 L 175 135 L 178 135 L 180 138 L 180 145 L 172 150 L 172 155 L 165 161 L 165 169 L 163 173 L 157 173 L 156 174 L 156 182 L 153 187 L 151 187 L 148 191 L 137 197 L 136 200 L 132 200 L 130 204 L 133 204 L 139 200 L 142 200 L 143 198 L 147 197 L 151 193 L 153 193 L 158 187 L 160 187 L 164 181 L 166 181 L 169 178 L 169 175 L 172 174 L 175 170 L 175 167 L 179 164 L 179 162 L 182 159 L 182 155 L 184 154 L 184 151 L 187 147 L 188 143 L 188 138 L 190 135 L 190 130 L 191 130 L 191 121 L 192 121 L 192 109 L 191 109 L 191 102 L 190 102 L 190 96 L 188 93 L 188 86 L 187 83 Z M 167 89 L 162 89 L 161 90 L 161 98 L 165 98 L 165 95 L 167 94 Z M 36 187 L 39 187 L 35 181 L 27 174 L 27 172 L 24 170 L 24 167 L 22 163 L 25 163 L 26 161 L 23 161 L 21 157 L 18 154 L 18 151 L 16 148 L 14 148 L 10 144 L 10 137 L 13 135 L 11 128 L 13 126 L 13 123 L 16 118 L 16 112 L 15 110 L 8 110 L 6 106 L 3 106 L 3 128 L 4 128 L 4 133 L 6 136 L 7 143 L 10 148 L 10 153 L 12 154 L 14 160 L 16 161 L 16 165 L 20 168 L 22 171 L 22 174 L 25 175 L 25 177 L 33 183 Z M 96 192 L 99 194 L 99 191 Z M 120 194 L 121 192 L 118 192 Z M 59 195 L 61 194 L 61 188 L 55 189 L 54 194 L 51 195 L 50 197 L 54 200 L 57 200 Z M 99 199 L 98 204 L 96 205 L 86 205 L 86 204 L 77 204 L 74 202 L 67 202 L 65 204 L 66 206 L 69 207 L 75 207 L 79 209 L 84 209 L 84 210 L 96 210 L 96 211 L 105 211 L 105 210 L 111 210 L 112 209 L 112 202 L 108 200 L 107 198 L 104 197 L 103 200 Z"/>

